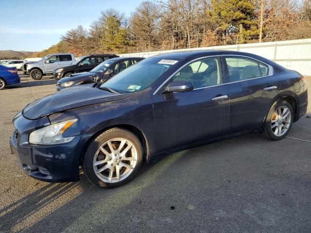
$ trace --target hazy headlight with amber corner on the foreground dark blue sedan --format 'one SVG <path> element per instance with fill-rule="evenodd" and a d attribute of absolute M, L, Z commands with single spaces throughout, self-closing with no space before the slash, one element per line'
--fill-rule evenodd
<path fill-rule="evenodd" d="M 74 137 L 62 137 L 62 134 L 77 120 L 66 120 L 35 130 L 30 133 L 29 142 L 36 145 L 55 145 L 70 142 Z"/>

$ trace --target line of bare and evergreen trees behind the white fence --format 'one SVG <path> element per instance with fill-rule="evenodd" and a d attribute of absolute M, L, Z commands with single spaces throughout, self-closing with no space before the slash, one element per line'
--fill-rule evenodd
<path fill-rule="evenodd" d="M 130 17 L 112 8 L 102 11 L 89 29 L 79 25 L 34 56 L 146 52 L 302 38 L 311 38 L 311 0 L 146 0 Z"/>

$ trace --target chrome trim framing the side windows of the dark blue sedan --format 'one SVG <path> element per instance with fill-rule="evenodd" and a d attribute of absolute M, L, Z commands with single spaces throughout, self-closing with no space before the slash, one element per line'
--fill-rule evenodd
<path fill-rule="evenodd" d="M 274 74 L 274 70 L 273 70 L 273 67 L 270 66 L 269 64 L 263 62 L 263 61 L 260 61 L 259 59 L 256 59 L 256 58 L 253 58 L 253 57 L 249 57 L 249 56 L 246 56 L 246 55 L 238 55 L 238 54 L 220 54 L 220 55 L 210 55 L 210 56 L 204 56 L 204 57 L 199 57 L 199 58 L 195 58 L 189 62 L 187 62 L 186 64 L 184 64 L 182 67 L 179 67 L 179 69 L 177 69 L 172 75 L 170 75 L 170 77 L 168 77 L 161 85 L 158 86 L 158 88 L 155 89 L 153 95 L 155 95 L 159 90 L 160 88 L 167 82 L 169 81 L 175 74 L 177 74 L 182 68 L 184 68 L 185 66 L 189 65 L 190 63 L 192 62 L 195 62 L 196 60 L 200 60 L 200 59 L 204 59 L 204 58 L 209 58 L 209 57 L 245 57 L 245 58 L 248 58 L 250 60 L 255 60 L 255 61 L 258 61 L 266 66 L 269 67 L 269 74 L 268 75 L 265 75 L 265 76 L 260 76 L 260 77 L 257 77 L 257 78 L 252 78 L 252 79 L 245 79 L 245 80 L 240 80 L 240 81 L 235 81 L 235 82 L 229 82 L 229 83 L 222 83 L 222 84 L 217 84 L 217 85 L 213 85 L 213 86 L 205 86 L 205 87 L 199 87 L 199 88 L 194 88 L 193 90 L 199 90 L 199 89 L 205 89 L 205 88 L 209 88 L 209 87 L 214 87 L 214 86 L 221 86 L 221 85 L 226 85 L 226 84 L 230 84 L 230 83 L 239 83 L 239 82 L 244 82 L 244 81 L 248 81 L 248 80 L 253 80 L 253 79 L 259 79 L 259 78 L 264 78 L 264 77 L 269 77 L 269 76 L 272 76 Z M 223 77 L 222 77 L 223 78 Z"/>

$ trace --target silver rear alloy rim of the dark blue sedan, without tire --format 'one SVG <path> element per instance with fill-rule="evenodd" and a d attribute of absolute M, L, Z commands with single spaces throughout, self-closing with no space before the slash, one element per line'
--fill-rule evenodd
<path fill-rule="evenodd" d="M 272 115 L 271 130 L 274 135 L 284 135 L 292 122 L 291 110 L 287 106 L 280 106 Z"/>

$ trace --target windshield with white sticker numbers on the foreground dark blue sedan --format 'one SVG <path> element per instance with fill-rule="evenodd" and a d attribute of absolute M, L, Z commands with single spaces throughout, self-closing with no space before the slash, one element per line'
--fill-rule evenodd
<path fill-rule="evenodd" d="M 100 87 L 108 87 L 120 93 L 142 91 L 154 83 L 163 73 L 180 59 L 147 58 L 124 69 Z"/>

